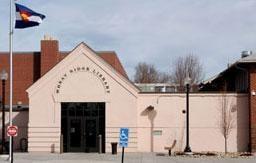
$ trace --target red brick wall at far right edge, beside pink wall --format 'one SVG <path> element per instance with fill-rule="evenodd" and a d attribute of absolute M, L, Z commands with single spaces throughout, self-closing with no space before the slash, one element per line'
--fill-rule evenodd
<path fill-rule="evenodd" d="M 252 152 L 256 152 L 256 95 L 252 94 L 252 92 L 256 92 L 256 66 L 250 67 L 249 83 L 250 148 Z"/>

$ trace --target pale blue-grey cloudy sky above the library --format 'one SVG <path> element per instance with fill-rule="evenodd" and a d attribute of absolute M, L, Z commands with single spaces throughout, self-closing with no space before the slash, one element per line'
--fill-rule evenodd
<path fill-rule="evenodd" d="M 0 51 L 8 50 L 9 0 L 0 0 Z M 15 51 L 39 51 L 45 34 L 60 50 L 80 42 L 117 52 L 130 78 L 140 61 L 170 72 L 177 56 L 198 55 L 205 78 L 256 52 L 256 0 L 18 0 L 46 15 L 35 28 L 15 30 Z"/>

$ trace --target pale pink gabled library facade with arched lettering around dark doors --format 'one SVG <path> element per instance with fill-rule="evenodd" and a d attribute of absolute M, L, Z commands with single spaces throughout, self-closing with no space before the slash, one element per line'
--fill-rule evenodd
<path fill-rule="evenodd" d="M 81 49 L 80 49 L 81 50 Z M 106 103 L 106 152 L 119 128 L 131 128 L 127 151 L 137 150 L 137 101 L 134 90 L 88 51 L 74 51 L 29 92 L 29 151 L 60 151 L 61 102 Z"/>

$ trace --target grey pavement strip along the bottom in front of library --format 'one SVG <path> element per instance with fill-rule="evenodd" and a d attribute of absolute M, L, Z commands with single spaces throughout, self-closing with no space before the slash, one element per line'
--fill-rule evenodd
<path fill-rule="evenodd" d="M 0 163 L 7 163 L 7 157 L 0 157 Z M 124 163 L 255 163 L 256 157 L 219 158 L 219 157 L 181 157 L 157 156 L 155 153 L 127 153 Z M 121 154 L 24 154 L 16 153 L 14 163 L 121 163 Z"/>

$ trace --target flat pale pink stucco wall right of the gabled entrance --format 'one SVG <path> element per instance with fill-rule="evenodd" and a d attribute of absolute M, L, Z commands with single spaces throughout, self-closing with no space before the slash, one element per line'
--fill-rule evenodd
<path fill-rule="evenodd" d="M 232 110 L 233 121 L 228 151 L 247 151 L 248 96 L 190 94 L 190 146 L 193 151 L 224 151 L 225 139 L 220 130 L 224 101 L 227 103 L 226 108 Z M 150 105 L 154 110 L 146 109 Z M 182 110 L 185 109 L 185 94 L 140 94 L 137 113 L 138 151 L 163 152 L 164 147 L 170 146 L 175 139 L 177 144 L 174 150 L 183 151 L 186 144 L 186 114 Z"/>

